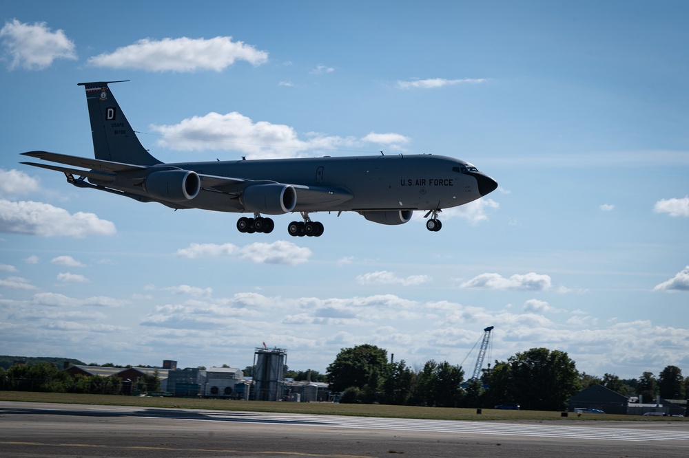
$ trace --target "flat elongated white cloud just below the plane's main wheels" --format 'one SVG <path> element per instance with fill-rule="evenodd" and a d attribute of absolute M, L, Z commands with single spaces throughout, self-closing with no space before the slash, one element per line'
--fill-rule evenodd
<path fill-rule="evenodd" d="M 189 259 L 233 256 L 238 254 L 257 264 L 298 265 L 305 263 L 311 256 L 309 248 L 301 248 L 294 243 L 278 240 L 273 243 L 251 243 L 243 248 L 225 243 L 192 243 L 188 248 L 177 250 L 177 255 Z"/>

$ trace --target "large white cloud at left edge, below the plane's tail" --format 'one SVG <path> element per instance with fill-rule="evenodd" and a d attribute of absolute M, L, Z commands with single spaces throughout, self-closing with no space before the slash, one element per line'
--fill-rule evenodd
<path fill-rule="evenodd" d="M 76 212 L 34 201 L 0 199 L 0 232 L 43 237 L 113 235 L 115 225 L 93 213 Z"/>

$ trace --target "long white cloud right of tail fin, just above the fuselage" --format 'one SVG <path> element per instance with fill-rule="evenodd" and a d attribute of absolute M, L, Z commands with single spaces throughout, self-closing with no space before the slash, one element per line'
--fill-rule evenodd
<path fill-rule="evenodd" d="M 296 157 L 310 149 L 337 149 L 354 146 L 353 138 L 308 133 L 307 140 L 298 138 L 296 131 L 285 124 L 254 122 L 236 111 L 227 114 L 208 113 L 194 116 L 178 124 L 150 129 L 163 135 L 158 146 L 176 151 L 233 150 L 254 158 Z"/>

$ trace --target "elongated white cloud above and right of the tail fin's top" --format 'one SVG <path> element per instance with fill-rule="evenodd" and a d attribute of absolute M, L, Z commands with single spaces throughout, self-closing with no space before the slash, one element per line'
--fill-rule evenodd
<path fill-rule="evenodd" d="M 96 67 L 142 69 L 148 72 L 195 72 L 213 70 L 221 72 L 235 61 L 247 61 L 261 65 L 268 60 L 268 53 L 231 36 L 212 39 L 143 39 L 134 45 L 119 47 L 112 53 L 89 58 Z"/>

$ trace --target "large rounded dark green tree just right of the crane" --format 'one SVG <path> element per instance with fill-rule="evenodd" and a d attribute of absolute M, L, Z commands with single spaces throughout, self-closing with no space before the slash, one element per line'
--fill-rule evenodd
<path fill-rule="evenodd" d="M 519 402 L 526 409 L 562 410 L 582 387 L 575 362 L 559 350 L 533 348 L 517 353 L 491 372 L 489 391 L 495 389 L 502 396 L 497 402 Z"/>

